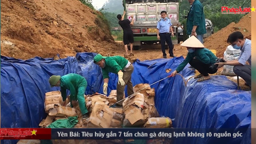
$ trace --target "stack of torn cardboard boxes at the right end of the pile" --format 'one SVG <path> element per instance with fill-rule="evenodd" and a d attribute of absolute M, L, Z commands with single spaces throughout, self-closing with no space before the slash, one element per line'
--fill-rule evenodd
<path fill-rule="evenodd" d="M 160 117 L 156 110 L 154 88 L 151 88 L 149 84 L 137 84 L 133 87 L 133 91 L 140 92 L 123 102 L 124 126 L 147 128 L 168 128 L 172 126 L 172 120 L 169 117 Z"/>

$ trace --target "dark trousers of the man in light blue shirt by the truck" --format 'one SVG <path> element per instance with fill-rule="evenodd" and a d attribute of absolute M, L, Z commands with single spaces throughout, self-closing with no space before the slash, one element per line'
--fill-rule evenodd
<path fill-rule="evenodd" d="M 160 43 L 161 43 L 161 49 L 162 49 L 162 52 L 163 52 L 163 56 L 166 56 L 165 42 L 169 46 L 169 54 L 173 55 L 173 52 L 172 52 L 173 46 L 172 46 L 171 34 L 170 33 L 160 33 L 159 36 L 160 36 Z"/>

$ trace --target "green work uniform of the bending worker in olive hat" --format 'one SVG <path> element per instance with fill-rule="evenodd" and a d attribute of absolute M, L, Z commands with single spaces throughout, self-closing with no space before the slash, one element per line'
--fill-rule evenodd
<path fill-rule="evenodd" d="M 67 90 L 69 90 L 71 107 L 73 107 L 72 100 L 78 100 L 78 104 L 83 115 L 88 113 L 84 100 L 86 87 L 86 79 L 78 74 L 67 74 L 60 77 L 60 92 L 63 101 L 66 100 Z"/>

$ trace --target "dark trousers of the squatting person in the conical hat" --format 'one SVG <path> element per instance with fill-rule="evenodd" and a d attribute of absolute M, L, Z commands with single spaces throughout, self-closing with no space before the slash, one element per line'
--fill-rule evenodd
<path fill-rule="evenodd" d="M 205 64 L 198 59 L 193 59 L 189 61 L 189 64 L 193 68 L 198 70 L 199 73 L 202 74 L 203 76 L 209 76 L 209 74 L 215 74 L 217 72 L 217 68 L 215 69 L 210 68 L 212 64 Z"/>

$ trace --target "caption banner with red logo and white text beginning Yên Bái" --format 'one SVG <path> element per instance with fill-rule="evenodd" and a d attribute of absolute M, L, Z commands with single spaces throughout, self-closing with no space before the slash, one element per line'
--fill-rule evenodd
<path fill-rule="evenodd" d="M 15 128 L 0 129 L 1 139 L 34 140 L 181 140 L 196 137 L 201 140 L 243 139 L 247 128 L 182 129 L 182 128 Z M 217 138 L 217 139 L 216 139 Z"/>

